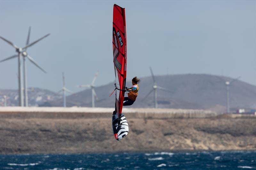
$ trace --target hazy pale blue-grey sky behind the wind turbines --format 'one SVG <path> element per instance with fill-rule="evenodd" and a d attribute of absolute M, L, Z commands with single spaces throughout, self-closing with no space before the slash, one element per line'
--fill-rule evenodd
<path fill-rule="evenodd" d="M 47 71 L 27 61 L 28 87 L 52 91 L 113 82 L 113 5 L 126 10 L 127 78 L 205 73 L 256 85 L 256 1 L 5 1 L 0 0 L 0 35 L 28 48 Z M 0 60 L 16 54 L 0 40 Z M 17 89 L 18 60 L 0 63 L 0 88 Z M 189 83 L 189 82 L 188 82 Z"/>

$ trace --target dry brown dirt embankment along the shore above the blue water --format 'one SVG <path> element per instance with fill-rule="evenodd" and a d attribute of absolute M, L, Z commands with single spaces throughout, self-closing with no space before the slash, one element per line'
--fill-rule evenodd
<path fill-rule="evenodd" d="M 140 119 L 116 141 L 109 118 L 0 114 L 0 154 L 255 150 L 255 118 Z"/>

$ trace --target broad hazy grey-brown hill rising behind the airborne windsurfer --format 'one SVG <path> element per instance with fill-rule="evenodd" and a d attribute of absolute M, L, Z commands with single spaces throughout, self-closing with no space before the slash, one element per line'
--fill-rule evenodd
<path fill-rule="evenodd" d="M 157 90 L 158 107 L 160 108 L 184 108 L 184 109 L 212 109 L 225 112 L 226 109 L 226 85 L 222 79 L 232 81 L 228 77 L 220 77 L 206 74 L 184 74 L 156 76 L 157 85 L 167 88 L 170 92 Z M 131 86 L 130 80 L 127 87 Z M 153 92 L 143 98 L 152 90 L 151 77 L 141 78 L 139 84 L 139 96 L 133 106 L 130 107 L 154 107 Z M 113 84 L 95 87 L 98 100 L 96 107 L 114 107 L 115 95 L 108 97 L 114 90 Z M 229 87 L 230 108 L 235 111 L 238 108 L 254 108 L 256 103 L 256 87 L 240 80 L 235 81 Z M 87 89 L 67 97 L 67 106 L 92 105 L 91 90 Z M 62 100 L 52 103 L 52 106 L 61 106 Z"/>

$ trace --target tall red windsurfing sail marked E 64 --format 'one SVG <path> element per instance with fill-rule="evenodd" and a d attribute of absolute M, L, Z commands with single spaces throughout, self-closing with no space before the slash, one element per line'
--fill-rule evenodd
<path fill-rule="evenodd" d="M 126 27 L 125 10 L 114 4 L 113 12 L 113 57 L 116 75 L 116 87 L 124 89 L 126 81 Z M 124 102 L 124 92 L 116 90 L 116 109 L 121 114 Z"/>

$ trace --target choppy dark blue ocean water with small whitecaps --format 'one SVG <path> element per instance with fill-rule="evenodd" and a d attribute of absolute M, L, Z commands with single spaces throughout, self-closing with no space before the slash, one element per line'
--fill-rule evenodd
<path fill-rule="evenodd" d="M 0 169 L 256 169 L 256 151 L 0 155 Z"/>

